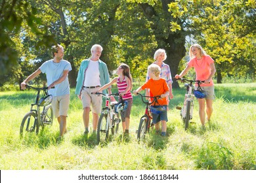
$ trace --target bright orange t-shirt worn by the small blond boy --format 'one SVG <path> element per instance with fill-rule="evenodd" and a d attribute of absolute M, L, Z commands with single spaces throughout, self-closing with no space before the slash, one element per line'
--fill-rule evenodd
<path fill-rule="evenodd" d="M 141 88 L 142 90 L 145 90 L 146 88 L 150 89 L 150 97 L 161 95 L 169 91 L 169 86 L 163 78 L 160 78 L 159 80 L 153 80 L 150 78 L 145 84 L 142 85 Z M 158 99 L 158 103 L 152 103 L 152 105 L 167 105 L 166 97 L 163 99 Z"/>

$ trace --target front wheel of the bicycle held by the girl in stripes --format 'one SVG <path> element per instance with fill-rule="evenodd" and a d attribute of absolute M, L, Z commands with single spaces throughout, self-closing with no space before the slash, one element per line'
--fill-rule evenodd
<path fill-rule="evenodd" d="M 100 114 L 98 119 L 98 129 L 97 129 L 97 142 L 105 142 L 108 140 L 110 116 L 108 114 Z"/>

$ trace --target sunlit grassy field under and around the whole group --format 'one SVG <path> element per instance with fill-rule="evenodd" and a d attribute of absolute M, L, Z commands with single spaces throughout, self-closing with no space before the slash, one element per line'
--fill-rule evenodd
<path fill-rule="evenodd" d="M 135 131 L 144 105 L 135 96 L 129 138 L 123 139 L 119 131 L 105 145 L 97 145 L 93 133 L 83 135 L 81 101 L 74 89 L 71 93 L 68 133 L 56 142 L 56 120 L 39 135 L 19 137 L 20 122 L 30 110 L 35 92 L 0 92 L 0 169 L 256 169 L 256 83 L 216 84 L 212 121 L 205 131 L 200 127 L 197 101 L 194 123 L 184 131 L 180 111 L 175 109 L 182 103 L 184 88 L 173 90 L 167 137 L 152 131 L 140 143 Z"/>

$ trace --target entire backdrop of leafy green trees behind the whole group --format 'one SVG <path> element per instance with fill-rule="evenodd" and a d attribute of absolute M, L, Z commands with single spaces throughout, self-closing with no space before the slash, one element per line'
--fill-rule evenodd
<path fill-rule="evenodd" d="M 172 75 L 179 73 L 193 42 L 215 60 L 217 77 L 254 78 L 254 17 L 252 0 L 3 1 L 0 86 L 22 82 L 52 58 L 50 48 L 56 42 L 64 46 L 64 59 L 72 64 L 71 86 L 93 44 L 102 44 L 101 59 L 110 73 L 127 63 L 138 80 L 144 80 L 158 48 L 166 50 Z M 40 75 L 35 82 L 43 80 Z"/>

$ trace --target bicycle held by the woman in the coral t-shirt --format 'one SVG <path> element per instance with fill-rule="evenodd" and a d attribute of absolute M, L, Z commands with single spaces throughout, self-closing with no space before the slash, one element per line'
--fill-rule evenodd
<path fill-rule="evenodd" d="M 177 81 L 181 80 L 181 82 L 189 82 L 185 83 L 186 93 L 184 97 L 183 107 L 176 107 L 178 110 L 181 110 L 181 118 L 185 124 L 185 130 L 188 129 L 188 124 L 191 122 L 193 118 L 193 110 L 194 110 L 194 92 L 199 92 L 201 89 L 200 84 L 204 81 L 201 80 L 187 80 L 185 78 L 175 78 Z M 194 90 L 193 83 L 198 84 L 199 90 Z M 203 94 L 203 93 L 202 93 Z M 204 94 L 203 94 L 204 95 Z"/>

